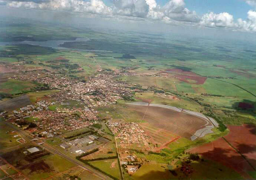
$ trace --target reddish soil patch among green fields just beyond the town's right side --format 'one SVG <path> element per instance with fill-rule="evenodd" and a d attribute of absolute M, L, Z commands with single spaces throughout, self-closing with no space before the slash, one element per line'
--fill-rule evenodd
<path fill-rule="evenodd" d="M 183 71 L 182 69 L 167 69 L 164 72 L 174 73 L 179 78 L 180 81 L 187 82 L 190 84 L 204 84 L 204 82 L 207 79 L 207 77 L 201 77 L 194 72 Z M 191 82 L 190 80 L 195 82 Z"/>

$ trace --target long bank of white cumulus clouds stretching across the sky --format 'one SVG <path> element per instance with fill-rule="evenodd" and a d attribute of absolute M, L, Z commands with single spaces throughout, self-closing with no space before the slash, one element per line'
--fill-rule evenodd
<path fill-rule="evenodd" d="M 256 0 L 244 0 L 256 7 Z M 199 17 L 195 11 L 186 8 L 184 0 L 169 0 L 161 7 L 155 0 L 112 0 L 113 6 L 106 6 L 104 0 L 0 0 L 0 5 L 12 8 L 57 10 L 100 14 L 101 17 L 118 17 L 128 20 L 162 21 L 164 23 L 183 23 L 211 28 L 230 28 L 232 30 L 256 32 L 256 11 L 250 10 L 247 19 L 234 20 L 229 13 L 206 13 Z M 116 15 L 116 16 L 109 16 Z"/>

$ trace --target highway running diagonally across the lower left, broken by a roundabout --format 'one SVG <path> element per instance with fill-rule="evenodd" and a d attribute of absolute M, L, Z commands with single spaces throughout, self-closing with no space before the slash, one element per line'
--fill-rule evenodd
<path fill-rule="evenodd" d="M 3 121 L 4 122 L 4 121 Z M 32 139 L 35 139 L 34 137 L 30 136 L 29 133 L 27 133 L 26 131 L 24 130 L 21 130 L 19 129 L 18 127 L 8 123 L 8 122 L 4 122 L 7 126 L 10 126 L 11 128 L 15 129 L 20 135 L 23 136 L 23 138 L 25 140 L 27 140 L 27 142 L 29 142 L 30 140 Z M 59 151 L 58 149 L 56 149 L 55 147 L 47 144 L 47 143 L 43 143 L 42 145 L 38 145 L 38 146 L 41 146 L 43 147 L 45 150 L 49 151 L 50 153 L 53 153 L 53 154 L 58 154 L 59 156 L 65 158 L 66 160 L 69 160 L 70 162 L 76 164 L 77 166 L 80 166 L 82 167 L 83 169 L 89 171 L 90 173 L 94 174 L 95 176 L 98 176 L 99 178 L 101 179 L 104 179 L 104 180 L 111 180 L 110 177 L 106 176 L 105 174 L 102 174 L 101 172 L 93 169 L 92 167 L 82 163 L 81 161 L 75 159 L 75 158 L 72 158 L 72 157 L 69 157 L 67 156 L 66 154 L 64 154 L 63 152 Z"/>

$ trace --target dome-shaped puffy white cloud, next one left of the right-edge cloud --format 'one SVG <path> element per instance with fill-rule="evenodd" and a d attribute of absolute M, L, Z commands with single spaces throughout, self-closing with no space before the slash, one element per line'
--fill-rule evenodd
<path fill-rule="evenodd" d="M 207 27 L 234 27 L 234 18 L 229 13 L 214 14 L 213 12 L 204 14 L 200 24 Z"/>

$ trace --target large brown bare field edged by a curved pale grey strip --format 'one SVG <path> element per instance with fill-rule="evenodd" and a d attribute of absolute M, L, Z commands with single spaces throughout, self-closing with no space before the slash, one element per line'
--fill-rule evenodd
<path fill-rule="evenodd" d="M 206 120 L 183 112 L 173 111 L 156 106 L 127 105 L 128 108 L 138 112 L 144 120 L 155 128 L 164 129 L 175 135 L 190 137 L 198 130 L 209 125 Z"/>

